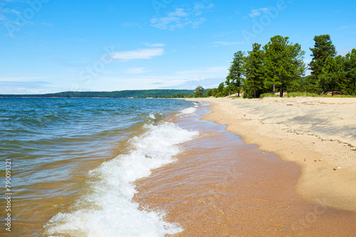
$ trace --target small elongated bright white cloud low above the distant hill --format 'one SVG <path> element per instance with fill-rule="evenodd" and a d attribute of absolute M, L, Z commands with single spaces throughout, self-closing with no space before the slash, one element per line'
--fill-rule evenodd
<path fill-rule="evenodd" d="M 120 61 L 129 61 L 135 59 L 150 59 L 164 53 L 163 48 L 147 48 L 132 51 L 121 51 L 112 54 L 112 58 Z"/>

